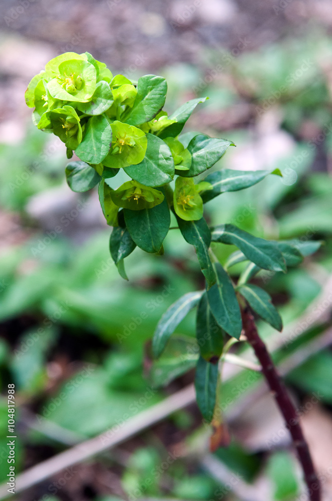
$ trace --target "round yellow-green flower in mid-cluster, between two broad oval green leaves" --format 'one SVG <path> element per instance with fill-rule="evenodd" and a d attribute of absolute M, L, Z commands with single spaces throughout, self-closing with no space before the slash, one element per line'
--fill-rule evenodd
<path fill-rule="evenodd" d="M 147 146 L 143 131 L 133 125 L 123 124 L 115 120 L 110 124 L 112 129 L 112 144 L 108 155 L 102 160 L 106 167 L 128 167 L 140 163 Z"/>

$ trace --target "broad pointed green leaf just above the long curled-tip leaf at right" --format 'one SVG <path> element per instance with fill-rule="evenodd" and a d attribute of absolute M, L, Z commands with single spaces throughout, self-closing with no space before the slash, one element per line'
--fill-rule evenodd
<path fill-rule="evenodd" d="M 191 139 L 187 148 L 191 154 L 191 167 L 189 170 L 181 171 L 180 175 L 183 177 L 194 177 L 204 172 L 222 157 L 230 145 L 233 145 L 233 143 L 226 139 L 217 139 L 208 137 L 205 134 L 198 134 Z"/>

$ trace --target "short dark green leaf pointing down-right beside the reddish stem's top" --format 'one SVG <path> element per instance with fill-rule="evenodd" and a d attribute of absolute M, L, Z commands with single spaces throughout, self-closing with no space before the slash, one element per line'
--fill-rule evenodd
<path fill-rule="evenodd" d="M 276 308 L 272 305 L 271 297 L 267 292 L 252 284 L 240 285 L 237 290 L 260 318 L 270 324 L 273 329 L 279 332 L 282 331 L 281 317 Z"/>

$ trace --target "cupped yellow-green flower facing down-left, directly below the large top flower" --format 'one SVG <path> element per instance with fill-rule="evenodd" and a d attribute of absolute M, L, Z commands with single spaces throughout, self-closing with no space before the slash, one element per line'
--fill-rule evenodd
<path fill-rule="evenodd" d="M 82 140 L 79 117 L 71 106 L 63 106 L 42 115 L 38 128 L 51 128 L 55 136 L 70 150 L 75 150 Z"/>

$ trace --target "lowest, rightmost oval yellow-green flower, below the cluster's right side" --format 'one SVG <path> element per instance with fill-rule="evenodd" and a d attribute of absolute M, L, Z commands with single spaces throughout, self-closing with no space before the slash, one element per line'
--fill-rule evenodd
<path fill-rule="evenodd" d="M 176 214 L 185 221 L 196 221 L 203 215 L 203 200 L 190 177 L 176 178 L 173 203 Z"/>

